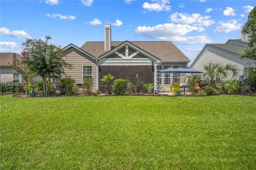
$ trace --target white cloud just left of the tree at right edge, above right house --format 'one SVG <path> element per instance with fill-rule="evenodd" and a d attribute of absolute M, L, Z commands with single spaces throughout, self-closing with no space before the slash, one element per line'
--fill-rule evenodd
<path fill-rule="evenodd" d="M 242 27 L 242 24 L 238 24 L 236 20 L 230 20 L 226 23 L 220 21 L 220 26 L 217 26 L 217 28 L 214 30 L 214 32 L 225 32 L 228 33 L 230 31 L 240 30 Z"/>

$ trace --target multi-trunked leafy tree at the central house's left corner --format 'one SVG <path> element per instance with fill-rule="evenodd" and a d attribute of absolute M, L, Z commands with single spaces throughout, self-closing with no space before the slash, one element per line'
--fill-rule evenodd
<path fill-rule="evenodd" d="M 27 39 L 26 42 L 22 42 L 25 46 L 22 63 L 26 64 L 30 71 L 42 77 L 45 96 L 50 94 L 51 79 L 56 75 L 64 74 L 64 67 L 72 68 L 72 64 L 62 59 L 66 57 L 64 49 L 60 46 L 48 45 L 50 39 L 50 36 L 46 36 L 45 41 Z"/>

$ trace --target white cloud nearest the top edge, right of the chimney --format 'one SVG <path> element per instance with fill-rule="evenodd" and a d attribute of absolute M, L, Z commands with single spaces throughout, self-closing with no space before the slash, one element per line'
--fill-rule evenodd
<path fill-rule="evenodd" d="M 149 11 L 170 11 L 171 6 L 168 6 L 166 4 L 170 4 L 169 0 L 152 0 L 152 2 L 155 3 L 148 3 L 144 2 L 142 5 L 142 8 L 149 10 Z"/>

